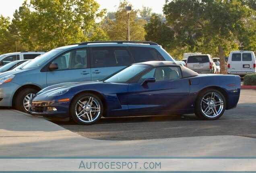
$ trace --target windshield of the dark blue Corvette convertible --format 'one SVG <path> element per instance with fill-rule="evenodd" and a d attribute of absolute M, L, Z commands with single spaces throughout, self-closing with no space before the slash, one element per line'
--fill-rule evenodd
<path fill-rule="evenodd" d="M 104 80 L 104 82 L 125 83 L 149 67 L 150 67 L 149 65 L 134 64 L 134 65 L 128 66 L 127 68 L 124 68 L 124 70 L 118 72 L 114 76 L 110 76 L 109 78 Z"/>

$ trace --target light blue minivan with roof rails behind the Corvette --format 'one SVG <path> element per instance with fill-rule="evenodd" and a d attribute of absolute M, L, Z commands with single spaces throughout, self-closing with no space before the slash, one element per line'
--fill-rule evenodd
<path fill-rule="evenodd" d="M 47 86 L 102 80 L 134 62 L 148 60 L 174 61 L 154 42 L 83 42 L 56 48 L 21 70 L 0 75 L 0 106 L 29 112 L 32 97 Z"/>

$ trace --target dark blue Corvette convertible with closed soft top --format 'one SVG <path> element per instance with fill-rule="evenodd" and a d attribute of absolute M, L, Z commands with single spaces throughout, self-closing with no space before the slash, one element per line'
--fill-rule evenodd
<path fill-rule="evenodd" d="M 240 77 L 203 74 L 168 61 L 132 64 L 102 81 L 47 87 L 32 100 L 33 115 L 70 117 L 89 125 L 103 117 L 195 113 L 215 120 L 235 108 Z"/>

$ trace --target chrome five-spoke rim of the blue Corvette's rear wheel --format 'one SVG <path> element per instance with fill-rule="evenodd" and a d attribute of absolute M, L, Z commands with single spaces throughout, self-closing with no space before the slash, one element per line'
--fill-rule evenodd
<path fill-rule="evenodd" d="M 209 118 L 218 117 L 224 108 L 224 101 L 221 95 L 215 92 L 206 93 L 201 100 L 201 111 Z"/>

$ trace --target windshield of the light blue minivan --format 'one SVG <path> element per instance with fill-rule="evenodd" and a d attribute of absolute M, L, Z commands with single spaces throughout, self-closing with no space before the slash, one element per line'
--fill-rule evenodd
<path fill-rule="evenodd" d="M 62 51 L 62 49 L 53 49 L 49 52 L 46 52 L 45 54 L 43 54 L 43 55 L 37 57 L 35 60 L 31 61 L 31 63 L 28 63 L 27 65 L 25 65 L 23 68 L 24 69 L 37 68 L 61 51 Z"/>

